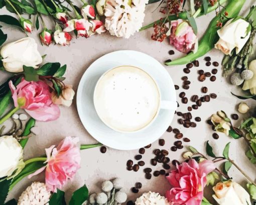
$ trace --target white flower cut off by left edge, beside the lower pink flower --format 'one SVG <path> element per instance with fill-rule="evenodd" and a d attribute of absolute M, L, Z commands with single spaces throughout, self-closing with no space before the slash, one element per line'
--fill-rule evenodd
<path fill-rule="evenodd" d="M 13 136 L 0 137 L 0 178 L 11 176 L 23 164 L 23 148 Z"/>

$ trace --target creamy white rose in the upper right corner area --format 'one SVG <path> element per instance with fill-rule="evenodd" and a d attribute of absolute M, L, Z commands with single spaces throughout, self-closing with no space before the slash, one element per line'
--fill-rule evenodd
<path fill-rule="evenodd" d="M 250 37 L 250 32 L 246 35 L 248 22 L 243 19 L 232 21 L 233 19 L 230 19 L 218 30 L 219 41 L 215 44 L 215 48 L 221 50 L 225 55 L 230 55 L 234 48 L 238 54 Z"/>

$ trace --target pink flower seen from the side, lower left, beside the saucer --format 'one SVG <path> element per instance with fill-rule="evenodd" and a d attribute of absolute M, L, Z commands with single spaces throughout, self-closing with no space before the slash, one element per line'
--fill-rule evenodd
<path fill-rule="evenodd" d="M 66 137 L 56 148 L 52 145 L 45 149 L 46 166 L 30 174 L 28 178 L 46 169 L 45 184 L 47 189 L 53 192 L 57 192 L 57 188 L 61 189 L 68 179 L 73 179 L 80 168 L 81 156 L 78 140 L 78 137 Z"/>

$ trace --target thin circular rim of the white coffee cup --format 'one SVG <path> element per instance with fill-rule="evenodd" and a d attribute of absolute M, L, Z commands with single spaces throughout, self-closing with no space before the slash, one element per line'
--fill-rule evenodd
<path fill-rule="evenodd" d="M 157 87 L 157 90 L 158 90 L 158 93 L 159 93 L 159 102 L 158 102 L 158 109 L 157 109 L 157 112 L 156 114 L 154 115 L 154 117 L 152 118 L 152 120 L 147 124 L 145 125 L 144 127 L 140 128 L 140 129 L 137 129 L 137 130 L 134 130 L 134 131 L 123 131 L 123 130 L 119 130 L 119 129 L 116 129 L 116 128 L 113 128 L 112 126 L 110 126 L 108 123 L 106 123 L 99 115 L 97 109 L 96 109 L 96 106 L 95 106 L 95 91 L 96 91 L 96 88 L 100 82 L 100 80 L 103 78 L 104 75 L 106 75 L 109 71 L 113 70 L 113 69 L 116 69 L 116 68 L 119 68 L 119 67 L 133 67 L 133 68 L 136 68 L 136 69 L 139 69 L 141 71 L 143 71 L 144 73 L 146 73 L 152 80 L 153 82 L 155 83 L 156 87 Z M 100 78 L 97 80 L 97 83 L 94 87 L 94 91 L 93 91 L 93 105 L 94 105 L 94 108 L 96 110 L 96 113 L 98 115 L 98 117 L 100 118 L 100 120 L 107 126 L 109 127 L 110 129 L 116 131 L 116 132 L 120 132 L 120 133 L 135 133 L 135 132 L 139 132 L 139 131 L 142 131 L 146 128 L 148 128 L 157 118 L 158 114 L 159 114 L 159 111 L 161 109 L 161 99 L 162 99 L 162 96 L 161 96 L 161 90 L 156 82 L 156 80 L 148 73 L 146 72 L 145 70 L 141 69 L 141 68 L 138 68 L 136 66 L 131 66 L 131 65 L 122 65 L 122 66 L 116 66 L 116 67 L 113 67 L 113 68 L 110 68 L 109 70 L 105 71 L 101 76 Z"/>

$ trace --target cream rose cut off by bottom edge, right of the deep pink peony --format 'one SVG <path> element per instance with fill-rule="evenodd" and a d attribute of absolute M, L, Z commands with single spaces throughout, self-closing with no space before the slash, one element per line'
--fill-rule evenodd
<path fill-rule="evenodd" d="M 212 196 L 220 205 L 251 205 L 250 195 L 236 182 L 219 182 L 213 190 Z"/>

